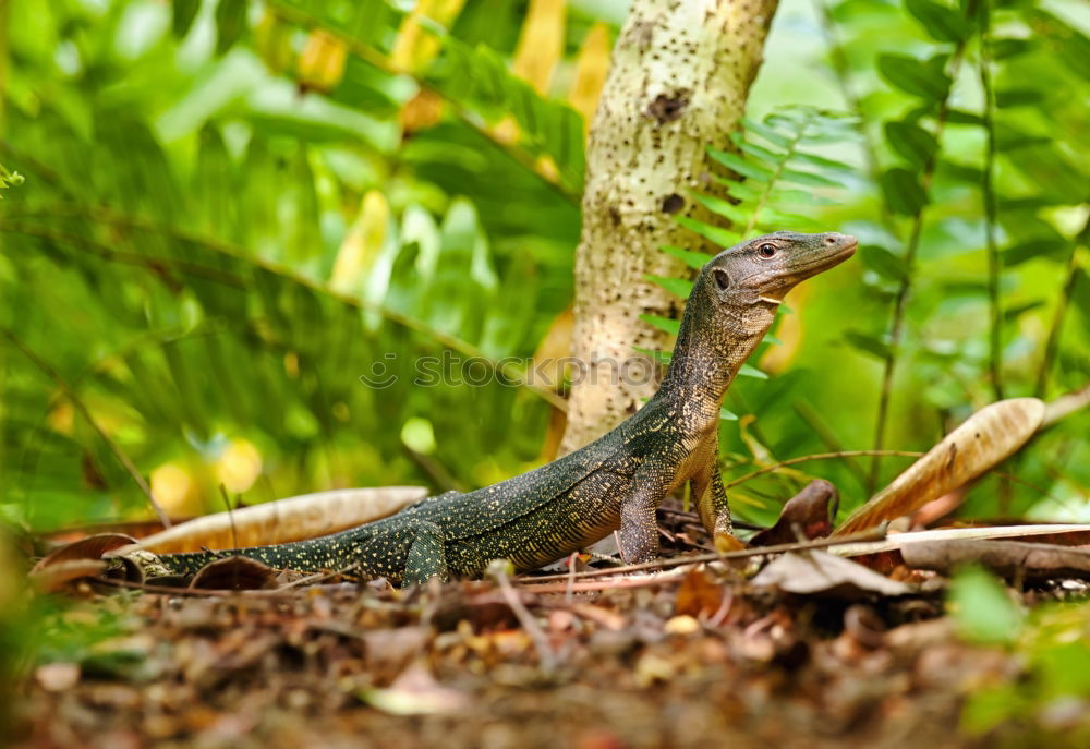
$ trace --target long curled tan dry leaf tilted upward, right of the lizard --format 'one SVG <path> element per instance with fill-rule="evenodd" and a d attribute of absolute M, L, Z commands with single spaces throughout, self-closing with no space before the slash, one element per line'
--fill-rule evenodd
<path fill-rule="evenodd" d="M 852 512 L 833 535 L 858 533 L 910 515 L 977 479 L 1025 445 L 1041 426 L 1044 412 L 1044 402 L 1037 398 L 985 406 Z"/>

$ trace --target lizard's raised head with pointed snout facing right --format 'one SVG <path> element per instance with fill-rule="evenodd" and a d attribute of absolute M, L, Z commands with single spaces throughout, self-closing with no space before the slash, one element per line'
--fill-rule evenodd
<path fill-rule="evenodd" d="M 777 231 L 741 242 L 713 257 L 701 276 L 725 302 L 775 309 L 797 285 L 856 252 L 855 237 Z"/>

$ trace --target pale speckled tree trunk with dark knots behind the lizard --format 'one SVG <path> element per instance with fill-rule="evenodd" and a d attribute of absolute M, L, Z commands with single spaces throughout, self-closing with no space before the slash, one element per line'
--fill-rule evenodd
<path fill-rule="evenodd" d="M 690 191 L 717 192 L 705 148 L 729 148 L 775 10 L 776 0 L 632 3 L 588 143 L 561 454 L 616 426 L 658 387 L 658 366 L 635 349 L 664 349 L 668 336 L 640 315 L 677 317 L 682 301 L 645 275 L 691 277 L 664 244 L 718 250 L 674 217 L 706 219 Z"/>

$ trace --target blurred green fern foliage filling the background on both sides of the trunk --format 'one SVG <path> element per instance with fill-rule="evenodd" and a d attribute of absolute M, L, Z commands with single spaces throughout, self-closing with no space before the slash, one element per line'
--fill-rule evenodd
<path fill-rule="evenodd" d="M 535 464 L 549 394 L 521 360 L 571 299 L 622 2 L 3 8 L 4 519 L 148 512 L 119 455 L 178 514 L 220 509 L 221 483 L 262 502 Z M 738 152 L 710 155 L 738 203 L 704 230 L 864 246 L 792 294 L 771 376 L 732 389 L 730 473 L 876 433 L 925 449 L 1001 392 L 1086 384 L 1088 26 L 1059 0 L 782 4 Z M 1007 467 L 1033 488 L 981 482 L 966 511 L 1086 519 L 1088 428 L 1042 435 Z M 897 466 L 876 468 L 767 474 L 739 514 L 810 474 L 850 509 Z"/>

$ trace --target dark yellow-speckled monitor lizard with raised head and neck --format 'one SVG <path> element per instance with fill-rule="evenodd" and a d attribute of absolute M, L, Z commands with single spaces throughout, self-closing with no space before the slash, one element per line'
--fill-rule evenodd
<path fill-rule="evenodd" d="M 658 391 L 611 432 L 558 460 L 318 539 L 170 554 L 161 561 L 189 573 L 239 554 L 277 568 L 352 567 L 408 585 L 433 576 L 480 577 L 497 558 L 518 570 L 536 569 L 618 528 L 621 557 L 649 561 L 658 555 L 655 510 L 686 482 L 707 531 L 717 541 L 732 540 L 717 461 L 723 397 L 772 326 L 784 294 L 850 257 L 856 244 L 838 233 L 779 231 L 711 258 L 689 295 Z"/>

